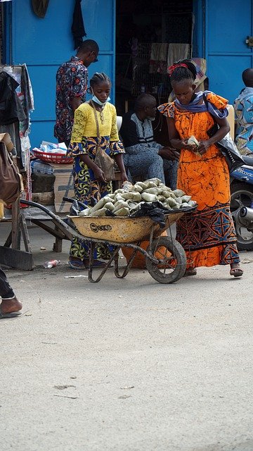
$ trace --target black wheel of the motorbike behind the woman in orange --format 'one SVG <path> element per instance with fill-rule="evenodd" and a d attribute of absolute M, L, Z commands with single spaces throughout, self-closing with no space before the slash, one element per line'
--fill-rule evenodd
<path fill-rule="evenodd" d="M 231 184 L 231 214 L 235 223 L 236 235 L 238 238 L 238 250 L 253 250 L 253 232 L 242 227 L 236 221 L 235 212 L 242 206 L 252 208 L 253 205 L 253 185 L 242 182 L 233 182 Z"/>

